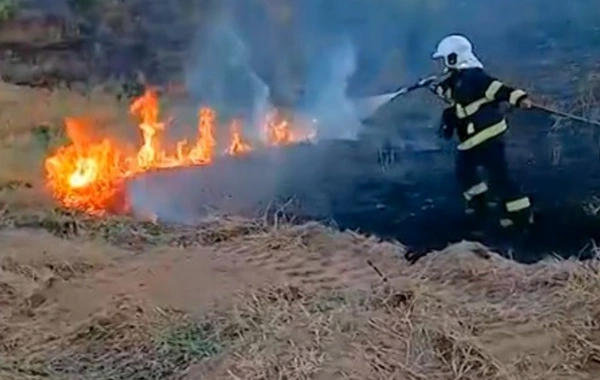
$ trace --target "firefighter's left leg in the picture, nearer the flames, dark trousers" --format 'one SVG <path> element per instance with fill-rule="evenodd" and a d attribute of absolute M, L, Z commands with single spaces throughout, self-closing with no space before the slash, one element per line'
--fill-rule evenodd
<path fill-rule="evenodd" d="M 480 160 L 477 151 L 458 151 L 456 176 L 466 203 L 465 213 L 473 216 L 475 220 L 484 218 L 487 211 L 486 194 L 488 186 L 477 173 L 479 165 Z"/>

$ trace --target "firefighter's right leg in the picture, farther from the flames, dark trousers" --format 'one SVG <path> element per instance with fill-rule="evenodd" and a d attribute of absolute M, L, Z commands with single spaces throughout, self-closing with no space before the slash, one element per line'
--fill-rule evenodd
<path fill-rule="evenodd" d="M 484 165 L 490 176 L 490 185 L 502 194 L 504 203 L 500 225 L 511 227 L 532 224 L 531 201 L 528 196 L 521 193 L 519 187 L 509 177 L 504 141 L 499 138 L 487 145 Z"/>

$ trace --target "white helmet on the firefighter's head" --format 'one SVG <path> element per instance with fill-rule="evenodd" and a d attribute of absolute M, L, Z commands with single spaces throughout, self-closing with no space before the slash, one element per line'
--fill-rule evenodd
<path fill-rule="evenodd" d="M 447 69 L 483 68 L 473 54 L 473 44 L 465 36 L 453 34 L 442 39 L 433 53 L 433 59 L 444 59 Z"/>

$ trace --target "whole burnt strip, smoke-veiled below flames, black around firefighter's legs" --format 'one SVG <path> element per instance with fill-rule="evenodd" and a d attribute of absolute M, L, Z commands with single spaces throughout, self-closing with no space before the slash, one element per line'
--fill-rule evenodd
<path fill-rule="evenodd" d="M 129 196 L 138 212 L 184 223 L 207 209 L 256 216 L 293 198 L 283 212 L 298 220 L 394 239 L 415 253 L 471 240 L 524 263 L 549 255 L 588 258 L 600 241 L 600 217 L 583 208 L 600 189 L 595 131 L 577 126 L 549 134 L 541 125 L 507 136 L 512 176 L 535 205 L 528 234 L 507 233 L 490 218 L 473 235 L 454 178 L 453 143 L 413 150 L 392 144 L 383 155 L 364 141 L 299 144 L 148 174 L 130 184 Z"/>

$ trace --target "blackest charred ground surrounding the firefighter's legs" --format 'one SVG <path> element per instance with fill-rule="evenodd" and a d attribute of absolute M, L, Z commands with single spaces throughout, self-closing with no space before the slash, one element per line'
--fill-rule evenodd
<path fill-rule="evenodd" d="M 482 233 L 473 233 L 455 182 L 451 142 L 440 144 L 437 150 L 394 151 L 392 147 L 387 155 L 394 158 L 388 160 L 385 172 L 381 162 L 374 168 L 372 153 L 358 158 L 359 148 L 332 143 L 327 149 L 331 158 L 322 160 L 332 165 L 323 172 L 336 173 L 324 175 L 322 182 L 325 188 L 328 181 L 331 186 L 327 192 L 332 219 L 340 228 L 398 240 L 416 254 L 475 240 L 524 263 L 549 255 L 594 256 L 595 242 L 600 241 L 600 216 L 591 215 L 584 205 L 600 189 L 598 131 L 564 121 L 557 126 L 555 120 L 535 112 L 514 113 L 509 120 L 506 141 L 511 175 L 531 196 L 535 209 L 536 223 L 528 231 L 501 228 L 496 213 L 480 226 Z M 427 133 L 435 141 L 435 135 Z M 373 167 L 368 168 L 368 162 Z M 336 169 L 338 164 L 344 169 Z M 334 190 L 334 182 L 339 190 Z"/>

